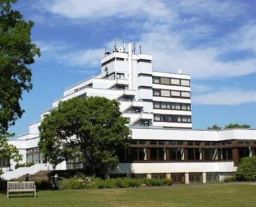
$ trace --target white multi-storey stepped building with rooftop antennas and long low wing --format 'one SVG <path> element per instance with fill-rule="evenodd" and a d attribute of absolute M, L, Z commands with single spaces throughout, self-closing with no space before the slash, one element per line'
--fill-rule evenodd
<path fill-rule="evenodd" d="M 115 47 L 112 53 L 106 52 L 99 75 L 64 90 L 52 108 L 60 101 L 90 96 L 117 99 L 123 116 L 130 119 L 132 144 L 110 175 L 167 175 L 177 181 L 205 181 L 206 177 L 219 179 L 219 175 L 235 172 L 242 157 L 256 155 L 256 130 L 193 130 L 190 75 L 153 71 L 152 56 L 135 54 L 131 44 L 128 51 Z M 42 112 L 41 120 L 49 112 Z M 3 163 L 3 170 L 13 170 L 3 178 L 52 169 L 37 145 L 40 123 L 31 124 L 27 135 L 10 141 L 23 155 L 21 163 L 35 165 L 14 170 L 14 161 L 10 161 L 10 168 Z M 80 166 L 79 161 L 63 161 L 57 169 Z"/>

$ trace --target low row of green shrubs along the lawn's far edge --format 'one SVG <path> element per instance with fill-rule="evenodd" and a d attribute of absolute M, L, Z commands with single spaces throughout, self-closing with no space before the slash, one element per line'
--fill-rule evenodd
<path fill-rule="evenodd" d="M 170 186 L 171 180 L 168 179 L 131 179 L 131 178 L 115 178 L 115 179 L 99 179 L 90 177 L 91 183 L 81 177 L 72 177 L 60 181 L 60 189 L 82 189 L 82 188 L 137 188 L 141 184 L 146 186 Z"/>

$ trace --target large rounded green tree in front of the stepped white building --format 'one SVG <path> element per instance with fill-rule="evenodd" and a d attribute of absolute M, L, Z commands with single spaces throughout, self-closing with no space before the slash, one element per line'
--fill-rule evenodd
<path fill-rule="evenodd" d="M 119 163 L 118 153 L 130 142 L 127 124 L 116 100 L 70 99 L 43 119 L 39 148 L 55 165 L 80 155 L 90 175 L 104 176 Z"/>

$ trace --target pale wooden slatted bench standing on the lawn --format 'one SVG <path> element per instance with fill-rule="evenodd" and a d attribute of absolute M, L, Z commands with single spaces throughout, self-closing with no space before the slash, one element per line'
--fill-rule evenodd
<path fill-rule="evenodd" d="M 36 197 L 37 189 L 35 181 L 8 181 L 6 192 L 7 198 L 9 198 L 9 193 L 12 192 L 32 192 L 34 197 Z"/>

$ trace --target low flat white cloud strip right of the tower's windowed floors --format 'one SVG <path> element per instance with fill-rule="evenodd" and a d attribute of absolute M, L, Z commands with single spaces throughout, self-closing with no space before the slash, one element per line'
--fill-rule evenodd
<path fill-rule="evenodd" d="M 193 96 L 193 103 L 199 105 L 239 105 L 256 102 L 255 90 L 223 88 L 216 92 Z"/>

